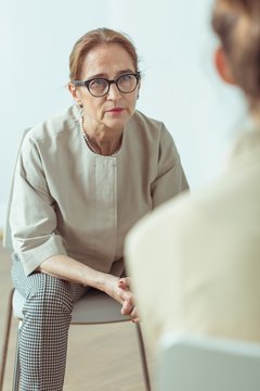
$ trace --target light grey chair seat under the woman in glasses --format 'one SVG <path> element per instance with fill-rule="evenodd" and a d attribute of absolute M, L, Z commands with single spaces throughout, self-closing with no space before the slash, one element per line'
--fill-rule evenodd
<path fill-rule="evenodd" d="M 25 298 L 17 291 L 13 294 L 13 313 L 23 319 Z M 90 289 L 74 306 L 72 324 L 95 325 L 130 320 L 121 315 L 121 305 L 116 300 L 95 289 Z"/>

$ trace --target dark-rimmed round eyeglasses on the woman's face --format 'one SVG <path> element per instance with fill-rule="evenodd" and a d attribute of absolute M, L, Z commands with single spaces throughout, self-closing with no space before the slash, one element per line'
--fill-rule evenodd
<path fill-rule="evenodd" d="M 114 80 L 106 78 L 92 78 L 90 80 L 73 80 L 75 86 L 86 86 L 89 92 L 96 98 L 104 97 L 109 92 L 110 85 L 115 84 L 122 93 L 130 93 L 135 90 L 141 78 L 140 72 L 122 74 Z"/>

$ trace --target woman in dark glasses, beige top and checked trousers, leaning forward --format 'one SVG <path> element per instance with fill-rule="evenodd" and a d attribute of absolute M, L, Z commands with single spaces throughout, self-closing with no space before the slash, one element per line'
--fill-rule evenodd
<path fill-rule="evenodd" d="M 76 104 L 26 136 L 14 180 L 13 282 L 26 297 L 21 390 L 63 388 L 75 301 L 93 287 L 136 320 L 123 276 L 126 234 L 187 188 L 162 123 L 135 111 L 141 74 L 131 41 L 101 28 L 75 45 Z"/>

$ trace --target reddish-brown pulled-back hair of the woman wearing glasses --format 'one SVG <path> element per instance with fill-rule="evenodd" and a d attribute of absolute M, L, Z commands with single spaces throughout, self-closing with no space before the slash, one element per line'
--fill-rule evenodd
<path fill-rule="evenodd" d="M 69 55 L 69 79 L 79 79 L 81 76 L 83 61 L 87 53 L 100 45 L 118 43 L 131 56 L 135 72 L 138 71 L 138 54 L 130 38 L 109 28 L 98 28 L 84 34 L 75 43 Z"/>

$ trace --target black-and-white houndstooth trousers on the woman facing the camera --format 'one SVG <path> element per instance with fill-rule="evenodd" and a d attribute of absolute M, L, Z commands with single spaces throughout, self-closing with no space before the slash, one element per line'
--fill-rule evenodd
<path fill-rule="evenodd" d="M 20 390 L 62 391 L 72 311 L 87 288 L 43 273 L 26 277 L 16 254 L 12 279 L 26 298 L 20 330 Z"/>

